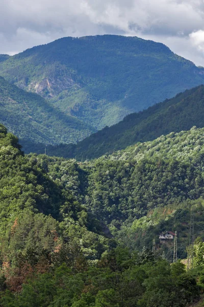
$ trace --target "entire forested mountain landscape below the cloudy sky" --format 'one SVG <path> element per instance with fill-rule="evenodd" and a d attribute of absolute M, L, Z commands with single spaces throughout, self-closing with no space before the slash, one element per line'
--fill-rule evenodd
<path fill-rule="evenodd" d="M 201 306 L 204 69 L 97 35 L 0 76 L 1 307 Z"/>

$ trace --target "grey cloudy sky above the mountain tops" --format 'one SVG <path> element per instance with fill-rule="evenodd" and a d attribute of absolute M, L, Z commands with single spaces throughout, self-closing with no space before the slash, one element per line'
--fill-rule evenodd
<path fill-rule="evenodd" d="M 0 53 L 95 34 L 160 41 L 204 66 L 204 1 L 0 0 Z"/>

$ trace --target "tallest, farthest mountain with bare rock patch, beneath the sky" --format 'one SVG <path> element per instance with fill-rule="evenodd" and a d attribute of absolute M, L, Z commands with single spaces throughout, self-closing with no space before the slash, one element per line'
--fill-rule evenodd
<path fill-rule="evenodd" d="M 116 35 L 34 47 L 1 62 L 0 75 L 96 129 L 204 82 L 204 69 L 162 43 Z"/>

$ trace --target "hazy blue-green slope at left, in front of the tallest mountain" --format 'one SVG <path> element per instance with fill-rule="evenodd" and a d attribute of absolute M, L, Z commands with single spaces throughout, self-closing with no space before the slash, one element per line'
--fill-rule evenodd
<path fill-rule="evenodd" d="M 0 121 L 19 138 L 31 142 L 74 142 L 94 129 L 58 111 L 41 96 L 20 90 L 0 77 Z"/>

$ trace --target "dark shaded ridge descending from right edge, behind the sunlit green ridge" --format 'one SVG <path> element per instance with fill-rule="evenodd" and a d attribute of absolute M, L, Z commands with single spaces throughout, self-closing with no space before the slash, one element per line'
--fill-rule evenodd
<path fill-rule="evenodd" d="M 143 112 L 130 114 L 118 124 L 98 131 L 77 145 L 50 146 L 47 153 L 66 158 L 76 157 L 79 160 L 93 159 L 136 142 L 154 140 L 171 131 L 190 129 L 194 125 L 204 127 L 203 85 L 151 106 Z M 42 151 L 40 146 L 36 149 L 38 152 Z M 32 151 L 35 151 L 34 147 Z"/>

